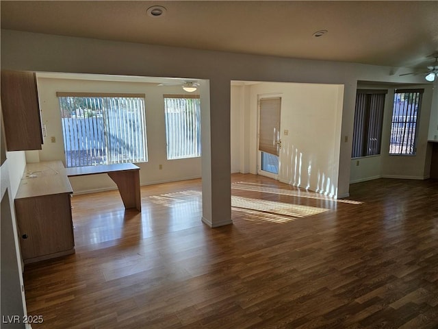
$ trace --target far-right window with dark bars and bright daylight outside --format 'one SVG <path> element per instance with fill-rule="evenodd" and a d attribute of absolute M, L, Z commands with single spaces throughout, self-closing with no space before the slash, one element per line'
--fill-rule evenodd
<path fill-rule="evenodd" d="M 423 91 L 398 89 L 394 93 L 389 154 L 415 154 Z"/>

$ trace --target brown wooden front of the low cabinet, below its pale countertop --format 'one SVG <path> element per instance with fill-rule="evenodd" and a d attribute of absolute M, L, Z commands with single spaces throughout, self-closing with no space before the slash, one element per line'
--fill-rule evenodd
<path fill-rule="evenodd" d="M 74 252 L 70 194 L 16 199 L 15 208 L 25 263 Z"/>

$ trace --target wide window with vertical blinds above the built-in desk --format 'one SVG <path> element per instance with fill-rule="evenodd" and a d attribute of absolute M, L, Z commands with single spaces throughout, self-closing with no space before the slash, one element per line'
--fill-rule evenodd
<path fill-rule="evenodd" d="M 144 95 L 57 93 L 66 167 L 146 162 Z"/>

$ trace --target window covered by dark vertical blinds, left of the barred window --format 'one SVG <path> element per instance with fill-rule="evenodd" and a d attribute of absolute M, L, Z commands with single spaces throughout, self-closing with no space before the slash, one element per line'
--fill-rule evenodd
<path fill-rule="evenodd" d="M 352 158 L 381 154 L 387 90 L 357 90 Z"/>

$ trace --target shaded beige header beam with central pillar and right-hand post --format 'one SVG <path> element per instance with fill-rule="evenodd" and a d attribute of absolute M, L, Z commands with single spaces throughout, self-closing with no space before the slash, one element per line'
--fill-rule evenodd
<path fill-rule="evenodd" d="M 357 81 L 423 82 L 420 76 L 400 77 L 398 72 L 404 69 L 389 66 L 201 51 L 10 30 L 1 31 L 1 66 L 12 70 L 208 79 L 210 108 L 209 123 L 203 126 L 202 171 L 203 188 L 211 189 L 205 195 L 211 198 L 205 199 L 203 193 L 203 205 L 207 204 L 211 215 L 221 221 L 231 217 L 231 80 L 344 85 L 342 138 L 339 149 L 335 150 L 339 152 L 340 196 L 348 195 L 350 185 Z M 203 120 L 203 123 L 206 122 Z M 204 185 L 204 181 L 210 179 L 210 184 Z"/>

